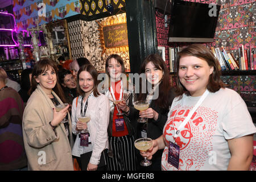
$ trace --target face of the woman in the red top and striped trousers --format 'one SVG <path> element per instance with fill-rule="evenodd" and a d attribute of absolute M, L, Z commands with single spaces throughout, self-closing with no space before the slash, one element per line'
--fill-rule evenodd
<path fill-rule="evenodd" d="M 122 65 L 113 57 L 109 60 L 108 72 L 112 79 L 119 80 L 122 73 Z"/>

